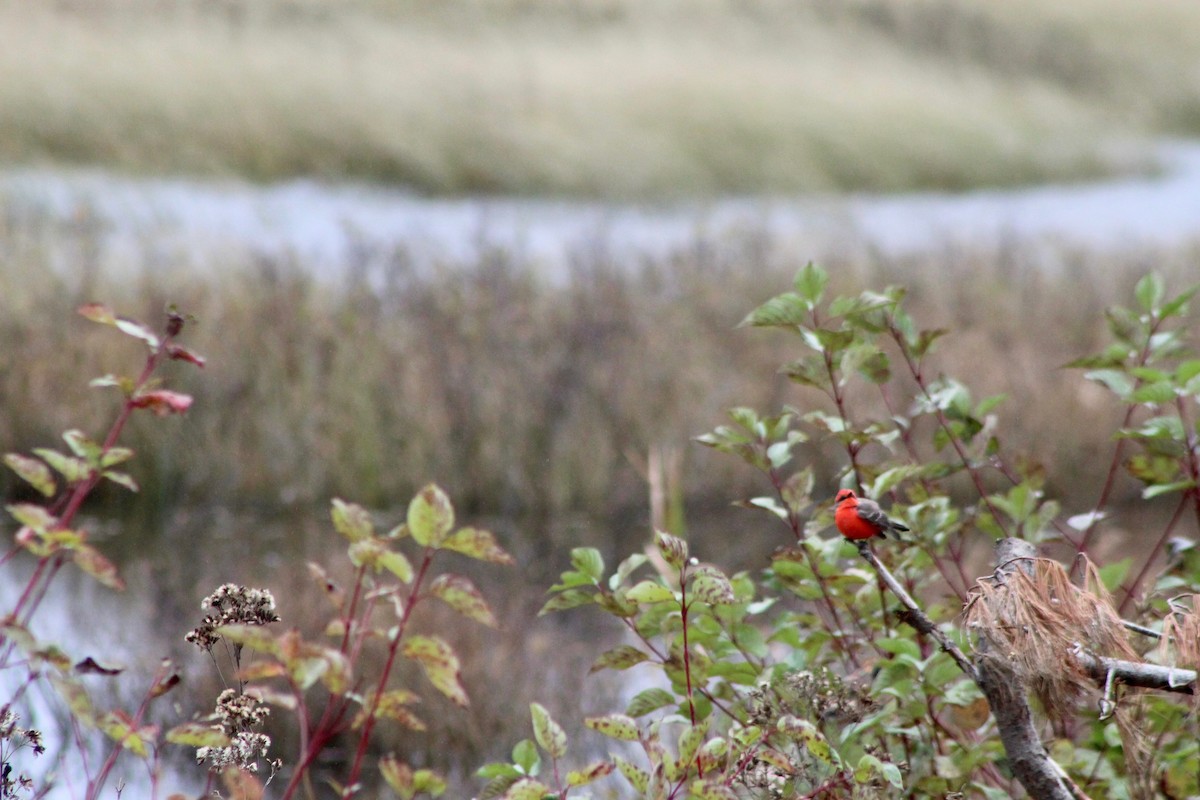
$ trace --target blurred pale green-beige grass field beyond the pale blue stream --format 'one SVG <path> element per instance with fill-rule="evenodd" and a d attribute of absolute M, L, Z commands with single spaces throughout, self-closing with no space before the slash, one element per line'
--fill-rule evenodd
<path fill-rule="evenodd" d="M 0 161 L 661 198 L 1094 174 L 1200 132 L 1195 4 L 0 2 Z"/>

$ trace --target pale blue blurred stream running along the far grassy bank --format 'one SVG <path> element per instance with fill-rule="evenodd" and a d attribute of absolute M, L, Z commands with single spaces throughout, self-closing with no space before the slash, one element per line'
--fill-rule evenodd
<path fill-rule="evenodd" d="M 0 174 L 0 209 L 10 219 L 83 221 L 102 239 L 109 264 L 149 257 L 211 269 L 248 254 L 286 257 L 332 277 L 364 252 L 398 249 L 430 266 L 500 248 L 553 275 L 598 243 L 637 259 L 733 235 L 766 235 L 815 259 L 1012 243 L 1027 252 L 1114 252 L 1200 241 L 1200 143 L 1163 144 L 1157 158 L 1162 169 L 1153 175 L 1080 185 L 672 205 L 431 199 L 312 180 L 258 186 L 25 169 Z"/>

